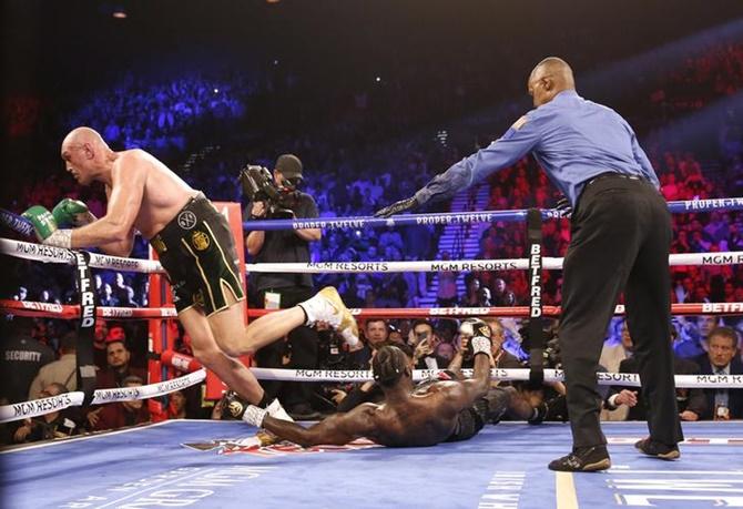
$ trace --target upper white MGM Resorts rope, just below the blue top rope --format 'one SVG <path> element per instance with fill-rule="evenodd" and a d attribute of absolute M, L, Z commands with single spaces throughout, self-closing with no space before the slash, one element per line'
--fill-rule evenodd
<path fill-rule="evenodd" d="M 0 238 L 0 253 L 44 263 L 73 264 L 70 250 L 44 246 L 30 242 Z M 563 258 L 544 257 L 542 268 L 561 269 Z M 671 266 L 683 265 L 741 265 L 743 252 L 682 253 L 669 256 Z M 164 273 L 160 262 L 154 259 L 122 258 L 92 253 L 89 264 L 93 268 L 129 271 L 138 273 Z M 467 272 L 510 271 L 529 268 L 528 258 L 472 259 L 472 261 L 419 261 L 419 262 L 311 262 L 311 263 L 261 263 L 245 264 L 247 272 L 293 273 L 293 274 L 344 274 L 385 272 Z"/>

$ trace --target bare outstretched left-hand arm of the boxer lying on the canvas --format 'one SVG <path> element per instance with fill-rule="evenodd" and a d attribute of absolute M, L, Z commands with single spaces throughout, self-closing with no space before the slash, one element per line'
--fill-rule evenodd
<path fill-rule="evenodd" d="M 304 428 L 296 423 L 266 416 L 263 420 L 263 427 L 278 438 L 303 447 L 319 444 L 343 446 L 356 438 L 374 435 L 373 415 L 376 408 L 376 405 L 366 403 L 346 414 L 332 415 L 308 428 Z"/>

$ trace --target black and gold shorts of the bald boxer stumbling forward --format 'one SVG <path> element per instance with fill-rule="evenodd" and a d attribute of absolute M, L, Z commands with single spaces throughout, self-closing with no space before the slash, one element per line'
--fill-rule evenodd
<path fill-rule="evenodd" d="M 228 307 L 225 292 L 235 301 L 245 298 L 230 224 L 203 193 L 189 200 L 150 244 L 167 272 L 179 313 L 199 306 L 213 315 Z"/>

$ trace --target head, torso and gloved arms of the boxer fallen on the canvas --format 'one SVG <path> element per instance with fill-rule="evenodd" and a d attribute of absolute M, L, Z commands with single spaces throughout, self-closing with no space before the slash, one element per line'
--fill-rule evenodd
<path fill-rule="evenodd" d="M 471 379 L 415 387 L 409 358 L 400 348 L 385 345 L 372 360 L 374 379 L 385 395 L 383 404 L 365 403 L 309 428 L 276 419 L 255 406 L 246 409 L 243 420 L 304 447 L 344 445 L 360 437 L 388 447 L 434 446 L 470 438 L 482 427 L 471 423 L 475 416 L 466 410 L 472 408 L 490 387 L 490 338 L 475 330 L 469 347 L 475 356 Z"/>

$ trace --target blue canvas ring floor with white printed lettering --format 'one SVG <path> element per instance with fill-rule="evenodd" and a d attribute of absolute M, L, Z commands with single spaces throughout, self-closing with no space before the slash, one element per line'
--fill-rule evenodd
<path fill-rule="evenodd" d="M 743 507 L 743 423 L 684 425 L 666 462 L 632 447 L 644 424 L 604 424 L 613 467 L 569 475 L 546 465 L 567 425 L 500 424 L 471 440 L 387 449 L 241 446 L 235 421 L 175 420 L 0 455 L 6 508 L 609 508 Z M 183 442 L 197 448 L 183 447 Z M 201 445 L 199 445 L 201 444 Z M 205 449 L 205 450 L 199 450 Z"/>

